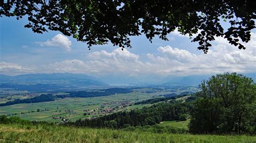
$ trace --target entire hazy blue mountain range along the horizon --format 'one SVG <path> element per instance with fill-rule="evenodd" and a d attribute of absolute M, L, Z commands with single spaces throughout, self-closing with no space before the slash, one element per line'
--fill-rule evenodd
<path fill-rule="evenodd" d="M 256 81 L 256 73 L 244 73 L 243 75 Z M 53 73 L 53 74 L 24 74 L 8 76 L 0 74 L 0 88 L 16 88 L 19 90 L 56 90 L 76 89 L 90 87 L 109 86 L 149 86 L 149 85 L 193 85 L 198 86 L 201 81 L 207 80 L 212 75 L 188 75 L 166 77 L 160 75 L 129 75 L 116 76 L 105 75 L 98 78 L 86 74 Z"/>

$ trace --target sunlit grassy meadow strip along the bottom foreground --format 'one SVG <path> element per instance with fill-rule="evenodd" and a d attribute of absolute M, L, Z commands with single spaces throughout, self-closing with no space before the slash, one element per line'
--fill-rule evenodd
<path fill-rule="evenodd" d="M 128 132 L 49 125 L 0 124 L 0 142 L 256 142 L 246 135 L 191 135 Z"/>

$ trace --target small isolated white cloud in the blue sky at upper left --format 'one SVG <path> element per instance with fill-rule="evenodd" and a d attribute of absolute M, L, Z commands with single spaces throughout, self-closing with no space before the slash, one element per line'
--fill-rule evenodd
<path fill-rule="evenodd" d="M 65 37 L 62 34 L 57 34 L 51 40 L 47 40 L 45 42 L 36 42 L 40 46 L 49 46 L 49 47 L 60 47 L 65 49 L 66 51 L 71 51 L 71 41 L 69 38 Z"/>

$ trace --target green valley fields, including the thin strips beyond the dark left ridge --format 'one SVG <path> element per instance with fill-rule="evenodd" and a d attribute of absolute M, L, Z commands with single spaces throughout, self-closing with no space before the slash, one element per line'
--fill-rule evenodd
<path fill-rule="evenodd" d="M 90 97 L 90 98 L 56 98 L 52 102 L 41 103 L 25 103 L 15 104 L 9 106 L 1 106 L 0 115 L 17 116 L 26 120 L 44 120 L 59 123 L 63 117 L 65 120 L 75 121 L 78 119 L 91 118 L 103 116 L 109 113 L 131 110 L 136 108 L 143 108 L 143 106 L 150 106 L 151 104 L 132 105 L 132 103 L 143 101 L 150 98 L 163 97 L 161 95 L 171 93 L 170 89 L 157 90 L 154 88 L 138 88 L 133 89 L 133 92 L 128 94 L 116 94 L 102 97 Z M 188 87 L 187 89 L 176 89 L 175 93 L 194 91 L 196 89 Z M 5 91 L 6 92 L 6 91 Z M 173 91 L 172 91 L 173 92 Z M 38 96 L 40 94 L 17 94 L 10 96 L 11 90 L 8 91 L 9 96 L 1 95 L 1 103 L 7 102 L 10 97 L 13 99 L 24 99 Z M 42 94 L 42 93 L 41 93 Z M 47 94 L 47 93 L 43 93 Z M 55 93 L 64 94 L 64 93 Z M 38 112 L 39 110 L 39 112 Z M 107 112 L 103 112 L 107 110 Z M 86 113 L 86 115 L 84 115 Z"/>

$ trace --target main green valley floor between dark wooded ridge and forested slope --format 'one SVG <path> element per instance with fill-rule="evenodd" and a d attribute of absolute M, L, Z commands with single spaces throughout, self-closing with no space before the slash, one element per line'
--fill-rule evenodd
<path fill-rule="evenodd" d="M 153 98 L 163 94 L 162 92 L 156 92 L 152 94 L 147 94 L 141 91 L 133 91 L 129 94 L 116 94 L 111 96 L 102 96 L 102 97 L 90 97 L 90 98 L 57 98 L 52 102 L 41 102 L 41 103 L 25 103 L 25 104 L 15 104 L 9 106 L 2 106 L 0 108 L 0 115 L 10 115 L 17 116 L 26 120 L 46 120 L 59 122 L 61 119 L 52 119 L 53 117 L 65 117 L 71 121 L 75 121 L 79 118 L 87 117 L 97 117 L 105 115 L 103 113 L 98 113 L 98 109 L 104 103 L 103 109 L 119 106 L 118 103 L 113 102 L 129 102 L 130 104 L 138 101 L 143 101 L 145 99 Z M 143 106 L 148 105 L 136 105 L 136 106 L 126 106 L 125 108 L 116 108 L 116 111 L 122 110 L 131 110 L 135 108 L 142 108 Z M 37 109 L 40 112 L 37 112 Z M 70 110 L 71 112 L 68 112 Z M 86 115 L 85 110 L 90 110 L 89 113 L 93 115 Z M 94 111 L 96 110 L 96 111 Z M 23 114 L 21 114 L 23 112 Z M 88 113 L 88 112 L 87 112 Z M 15 115 L 16 114 L 16 115 Z"/>

